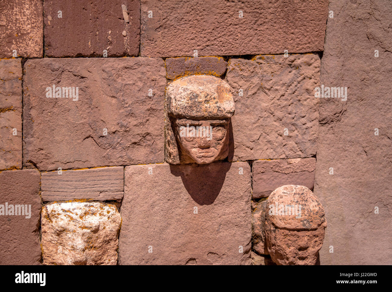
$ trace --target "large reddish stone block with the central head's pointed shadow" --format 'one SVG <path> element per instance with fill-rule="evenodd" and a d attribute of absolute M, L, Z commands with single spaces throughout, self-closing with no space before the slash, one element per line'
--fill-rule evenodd
<path fill-rule="evenodd" d="M 119 264 L 250 265 L 248 163 L 131 165 L 124 188 Z"/>

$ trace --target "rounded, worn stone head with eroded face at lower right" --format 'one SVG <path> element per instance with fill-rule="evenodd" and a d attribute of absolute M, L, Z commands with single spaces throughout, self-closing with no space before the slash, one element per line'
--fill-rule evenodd
<path fill-rule="evenodd" d="M 326 227 L 323 206 L 307 187 L 284 185 L 268 197 L 265 241 L 274 263 L 315 265 Z"/>

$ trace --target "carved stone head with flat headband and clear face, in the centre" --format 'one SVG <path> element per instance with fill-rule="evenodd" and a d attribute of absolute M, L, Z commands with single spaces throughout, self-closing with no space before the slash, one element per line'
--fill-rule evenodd
<path fill-rule="evenodd" d="M 166 112 L 167 162 L 205 164 L 227 157 L 234 100 L 225 81 L 193 75 L 170 83 Z"/>

